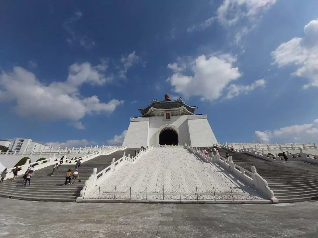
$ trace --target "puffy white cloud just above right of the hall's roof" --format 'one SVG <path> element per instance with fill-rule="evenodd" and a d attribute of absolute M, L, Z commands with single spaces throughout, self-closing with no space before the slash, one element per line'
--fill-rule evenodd
<path fill-rule="evenodd" d="M 178 58 L 177 63 L 168 65 L 174 74 L 167 81 L 175 93 L 185 98 L 200 96 L 203 101 L 213 101 L 222 95 L 228 83 L 241 76 L 239 68 L 233 66 L 235 61 L 236 58 L 229 54 Z"/>

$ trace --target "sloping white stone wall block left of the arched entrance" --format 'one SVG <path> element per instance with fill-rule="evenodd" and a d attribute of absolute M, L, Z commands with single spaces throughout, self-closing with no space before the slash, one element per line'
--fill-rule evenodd
<path fill-rule="evenodd" d="M 123 145 L 128 148 L 140 148 L 149 145 L 149 119 L 130 118 L 130 124 Z"/>

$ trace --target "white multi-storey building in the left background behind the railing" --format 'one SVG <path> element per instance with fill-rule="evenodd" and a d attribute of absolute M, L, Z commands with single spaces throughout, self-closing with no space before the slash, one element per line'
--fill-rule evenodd
<path fill-rule="evenodd" d="M 51 149 L 51 146 L 46 146 L 38 142 L 34 142 L 31 139 L 17 138 L 11 146 L 12 151 L 31 153 L 31 152 L 41 152 L 45 149 Z"/>

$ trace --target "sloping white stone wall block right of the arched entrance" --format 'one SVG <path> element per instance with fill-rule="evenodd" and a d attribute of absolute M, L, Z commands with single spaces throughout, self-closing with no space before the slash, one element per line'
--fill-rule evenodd
<path fill-rule="evenodd" d="M 202 115 L 199 119 L 190 119 L 189 117 L 188 125 L 192 147 L 212 146 L 213 143 L 218 143 L 206 115 Z"/>

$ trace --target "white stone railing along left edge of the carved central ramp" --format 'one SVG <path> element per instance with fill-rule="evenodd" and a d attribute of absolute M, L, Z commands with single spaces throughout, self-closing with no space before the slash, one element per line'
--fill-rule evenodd
<path fill-rule="evenodd" d="M 126 156 L 126 152 L 124 152 L 123 156 L 115 161 L 115 158 L 113 158 L 113 161 L 111 165 L 106 167 L 105 169 L 102 169 L 99 173 L 97 173 L 97 168 L 93 169 L 93 174 L 85 181 L 85 185 L 83 189 L 79 193 L 79 197 L 76 199 L 77 202 L 82 201 L 84 198 L 88 198 L 90 194 L 93 194 L 96 192 L 96 189 L 99 188 L 99 186 L 115 171 L 116 169 L 119 169 L 125 162 L 136 162 L 142 155 L 145 155 L 148 153 L 149 150 L 153 149 L 154 146 L 149 146 L 145 150 L 140 150 L 139 153 L 135 157 L 128 157 Z"/>

